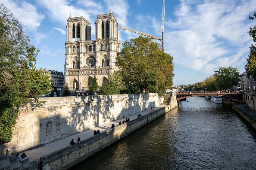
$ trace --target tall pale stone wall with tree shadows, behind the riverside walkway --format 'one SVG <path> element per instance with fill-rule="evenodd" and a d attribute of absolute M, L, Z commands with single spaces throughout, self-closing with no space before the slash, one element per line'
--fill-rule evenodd
<path fill-rule="evenodd" d="M 163 98 L 157 93 L 75 97 L 44 97 L 43 106 L 21 109 L 13 127 L 10 143 L 0 145 L 12 154 L 35 148 L 101 124 L 159 106 Z"/>

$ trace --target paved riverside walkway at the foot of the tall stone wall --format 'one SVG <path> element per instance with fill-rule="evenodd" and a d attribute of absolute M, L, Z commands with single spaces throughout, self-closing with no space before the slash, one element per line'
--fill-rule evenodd
<path fill-rule="evenodd" d="M 166 106 L 166 105 L 156 106 L 156 107 L 154 107 L 155 108 L 154 110 L 158 110 L 158 109 L 160 109 L 164 106 Z M 113 123 L 119 124 L 119 121 L 123 122 L 123 120 L 125 120 L 126 118 L 130 118 L 130 121 L 131 121 L 131 120 L 136 119 L 138 114 L 146 115 L 150 112 L 153 112 L 153 111 L 151 111 L 151 109 L 149 108 L 149 109 L 144 110 L 143 112 L 137 112 L 136 114 L 129 115 L 125 118 L 121 118 L 121 119 L 118 119 L 116 121 L 112 121 L 112 122 L 109 122 L 109 123 L 106 123 L 106 124 L 102 124 L 98 127 L 88 129 L 86 131 L 74 134 L 72 136 L 65 137 L 65 138 L 56 140 L 56 141 L 51 142 L 51 143 L 47 143 L 44 146 L 41 146 L 41 147 L 38 147 L 38 148 L 35 148 L 35 149 L 31 149 L 31 150 L 27 150 L 27 151 L 25 151 L 25 153 L 26 153 L 27 157 L 29 158 L 29 161 L 33 161 L 33 160 L 40 161 L 40 157 L 48 155 L 52 152 L 55 152 L 59 149 L 65 148 L 67 146 L 70 146 L 70 141 L 72 139 L 74 139 L 75 143 L 76 143 L 78 137 L 80 137 L 81 141 L 83 141 L 83 140 L 85 140 L 89 137 L 93 137 L 94 136 L 94 130 L 97 131 L 99 129 L 100 132 L 103 132 L 103 131 L 109 130 Z M 76 143 L 75 145 L 78 145 L 78 144 Z"/>

